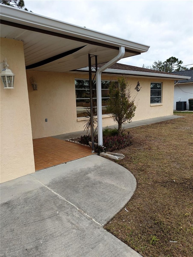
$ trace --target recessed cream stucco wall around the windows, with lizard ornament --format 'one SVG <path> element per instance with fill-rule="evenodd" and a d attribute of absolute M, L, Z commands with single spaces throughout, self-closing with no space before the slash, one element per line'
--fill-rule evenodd
<path fill-rule="evenodd" d="M 30 77 L 32 76 L 34 76 L 38 83 L 37 91 L 33 91 L 30 85 Z M 83 122 L 80 119 L 77 120 L 76 115 L 75 78 L 88 78 L 88 76 L 27 71 L 33 138 L 84 130 Z M 115 80 L 116 77 L 103 75 L 102 79 Z M 143 77 L 128 77 L 128 81 L 131 86 L 132 96 L 135 97 L 137 105 L 133 121 L 173 114 L 173 81 Z M 139 92 L 134 90 L 138 81 L 142 87 Z M 163 83 L 163 105 L 150 106 L 151 82 Z M 48 122 L 45 122 L 46 118 Z M 104 127 L 113 124 L 115 122 L 112 118 L 103 118 Z"/>

